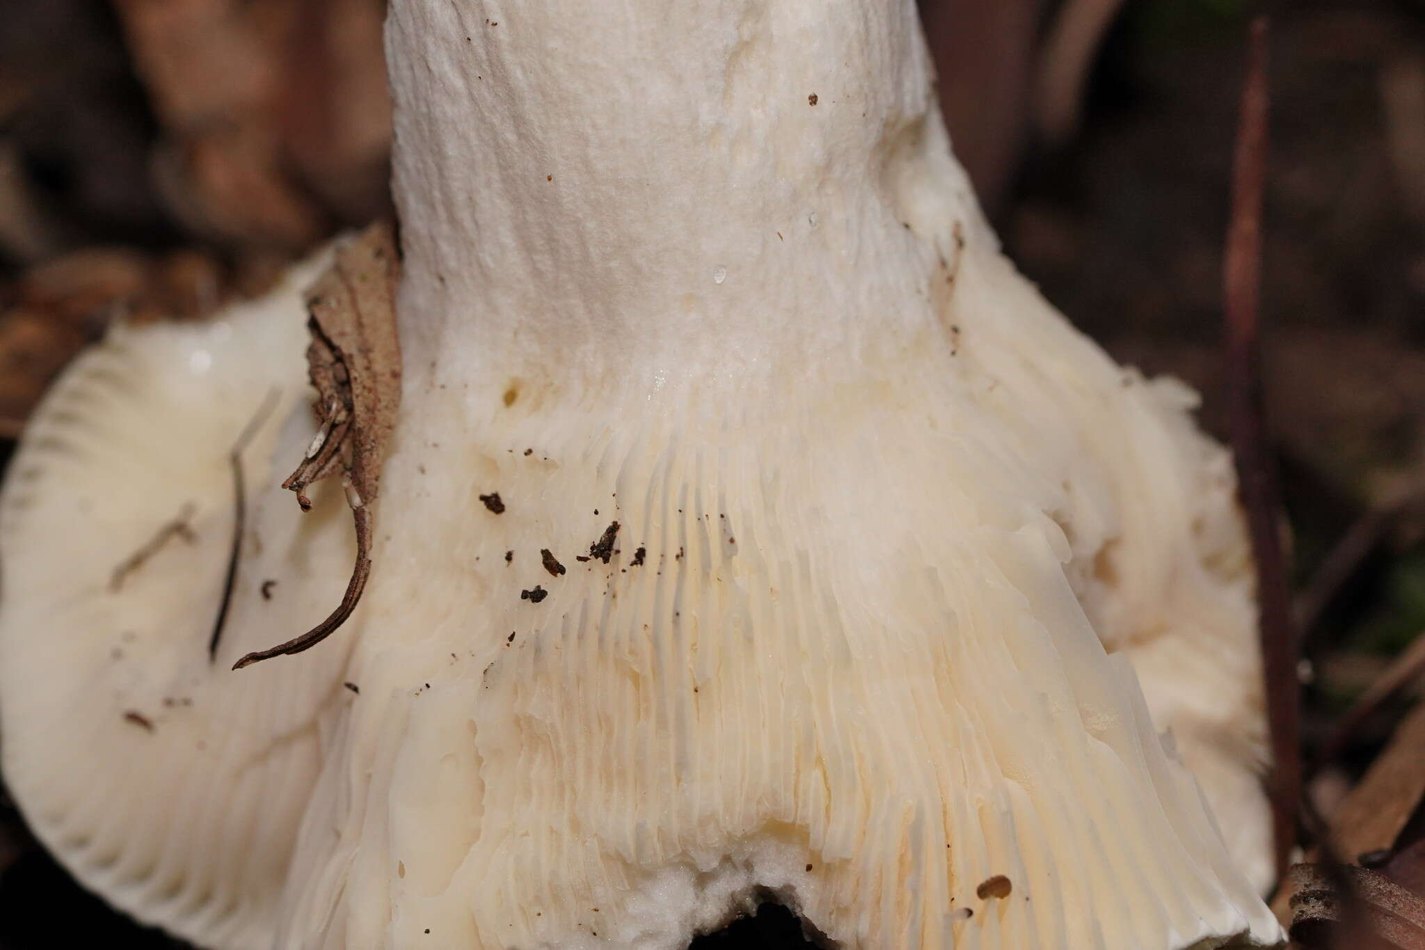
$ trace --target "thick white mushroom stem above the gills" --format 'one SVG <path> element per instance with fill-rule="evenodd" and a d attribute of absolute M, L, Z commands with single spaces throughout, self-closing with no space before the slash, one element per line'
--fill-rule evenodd
<path fill-rule="evenodd" d="M 418 375 L 846 365 L 979 219 L 911 0 L 396 0 L 388 58 Z"/>

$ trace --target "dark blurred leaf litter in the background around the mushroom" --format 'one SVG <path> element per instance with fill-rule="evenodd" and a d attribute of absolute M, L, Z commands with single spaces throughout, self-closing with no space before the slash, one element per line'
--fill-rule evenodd
<path fill-rule="evenodd" d="M 1425 3 L 1137 0 L 1077 31 L 1070 10 L 1117 4 L 922 6 L 1009 254 L 1113 356 L 1198 389 L 1224 440 L 1233 135 L 1245 26 L 1273 14 L 1264 373 L 1314 758 L 1425 631 Z M 198 318 L 389 214 L 382 7 L 6 0 L 3 454 L 110 320 Z M 1327 819 L 1421 699 L 1425 677 L 1402 679 L 1311 779 Z M 1411 809 L 1396 847 L 1425 837 Z M 77 890 L 6 803 L 0 950 L 57 940 L 177 946 Z"/>

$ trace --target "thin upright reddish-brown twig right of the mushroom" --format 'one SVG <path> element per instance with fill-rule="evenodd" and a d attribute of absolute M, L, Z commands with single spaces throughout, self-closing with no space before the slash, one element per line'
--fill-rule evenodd
<path fill-rule="evenodd" d="M 1233 212 L 1227 231 L 1223 292 L 1233 450 L 1257 563 L 1263 674 L 1273 752 L 1267 795 L 1273 806 L 1274 850 L 1280 875 L 1285 870 L 1287 857 L 1297 840 L 1301 761 L 1297 634 L 1287 587 L 1285 553 L 1278 534 L 1281 504 L 1277 470 L 1268 450 L 1257 338 L 1267 110 L 1267 20 L 1258 17 L 1251 26 L 1251 51 L 1233 161 Z"/>

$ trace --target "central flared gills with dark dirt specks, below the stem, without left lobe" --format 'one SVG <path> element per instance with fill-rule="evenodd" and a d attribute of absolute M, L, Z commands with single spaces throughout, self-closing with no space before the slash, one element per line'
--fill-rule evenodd
<path fill-rule="evenodd" d="M 1080 346 L 985 269 L 959 313 Z M 422 570 L 368 593 L 284 946 L 673 950 L 765 893 L 846 947 L 1275 943 L 1052 517 L 1117 517 L 1103 470 L 1160 434 L 1159 397 L 973 328 L 963 375 L 898 345 L 775 413 L 704 389 L 631 427 L 646 392 L 551 413 L 500 380 L 462 402 L 476 434 L 398 434 L 388 499 L 419 500 L 388 557 Z"/>

